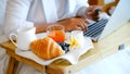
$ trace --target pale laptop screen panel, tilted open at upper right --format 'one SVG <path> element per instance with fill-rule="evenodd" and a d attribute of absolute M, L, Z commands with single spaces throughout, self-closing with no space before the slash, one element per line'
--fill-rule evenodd
<path fill-rule="evenodd" d="M 127 23 L 130 18 L 130 0 L 120 0 L 112 14 L 108 23 L 106 24 L 103 33 L 101 34 L 100 39 L 107 36 L 125 23 Z"/>

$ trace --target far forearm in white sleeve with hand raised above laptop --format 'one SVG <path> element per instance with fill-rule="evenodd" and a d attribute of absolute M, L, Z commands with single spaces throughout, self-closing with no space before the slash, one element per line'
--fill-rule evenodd
<path fill-rule="evenodd" d="M 84 2 L 86 1 L 86 2 Z M 87 0 L 78 0 L 79 4 L 82 4 L 80 9 L 77 11 L 77 16 L 81 16 L 84 18 L 89 18 L 92 21 L 99 20 L 99 12 L 101 11 L 101 7 L 99 5 L 83 5 L 87 3 Z"/>

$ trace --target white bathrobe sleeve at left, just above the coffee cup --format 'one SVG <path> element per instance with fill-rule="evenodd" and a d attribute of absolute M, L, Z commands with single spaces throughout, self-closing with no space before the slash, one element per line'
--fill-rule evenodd
<path fill-rule="evenodd" d="M 26 21 L 32 0 L 9 0 L 4 18 L 4 34 L 15 33 L 21 27 L 31 27 L 34 23 Z"/>

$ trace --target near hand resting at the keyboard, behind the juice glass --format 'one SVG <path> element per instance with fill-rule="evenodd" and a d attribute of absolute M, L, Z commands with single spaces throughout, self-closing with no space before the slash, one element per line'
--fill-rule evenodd
<path fill-rule="evenodd" d="M 72 17 L 62 20 L 58 22 L 65 27 L 66 32 L 70 30 L 87 30 L 87 24 L 89 24 L 84 18 Z"/>

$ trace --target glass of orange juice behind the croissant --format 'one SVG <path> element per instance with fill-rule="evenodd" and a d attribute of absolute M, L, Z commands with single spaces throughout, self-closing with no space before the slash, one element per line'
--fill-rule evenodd
<path fill-rule="evenodd" d="M 65 28 L 63 25 L 50 25 L 47 27 L 48 36 L 56 42 L 64 42 L 65 40 Z"/>

